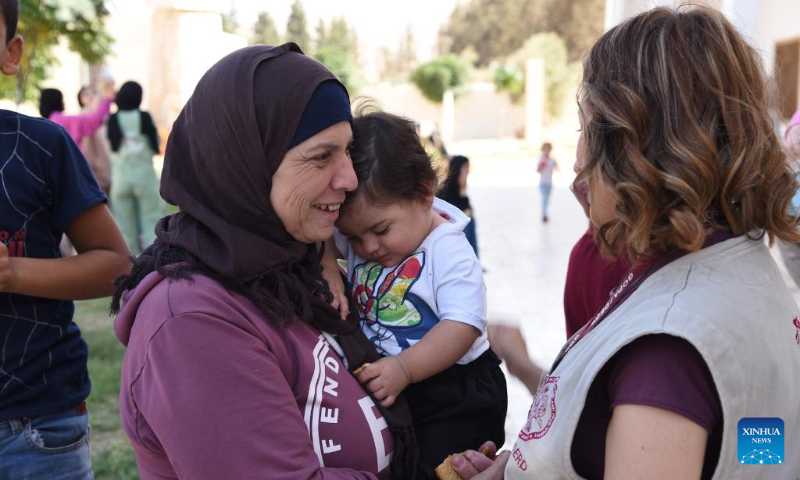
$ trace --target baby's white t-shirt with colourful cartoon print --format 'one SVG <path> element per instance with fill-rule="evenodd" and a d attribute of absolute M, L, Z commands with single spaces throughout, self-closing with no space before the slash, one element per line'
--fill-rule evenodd
<path fill-rule="evenodd" d="M 483 269 L 464 236 L 469 217 L 438 198 L 433 209 L 448 223 L 436 227 L 413 254 L 394 267 L 358 256 L 338 230 L 334 240 L 347 259 L 347 281 L 358 305 L 361 328 L 379 353 L 397 355 L 417 343 L 439 320 L 452 320 L 481 332 L 458 361 L 465 365 L 489 349 Z"/>

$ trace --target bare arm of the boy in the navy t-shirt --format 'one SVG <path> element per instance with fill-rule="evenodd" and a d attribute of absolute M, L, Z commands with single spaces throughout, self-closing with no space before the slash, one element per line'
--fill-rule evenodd
<path fill-rule="evenodd" d="M 0 291 L 56 300 L 111 295 L 114 279 L 130 268 L 128 247 L 105 204 L 78 214 L 67 228 L 78 255 L 9 257 L 0 242 Z"/>

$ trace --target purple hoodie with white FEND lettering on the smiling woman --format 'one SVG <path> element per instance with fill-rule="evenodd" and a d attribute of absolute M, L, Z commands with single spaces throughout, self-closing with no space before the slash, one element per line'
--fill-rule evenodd
<path fill-rule="evenodd" d="M 275 327 L 202 275 L 151 273 L 114 330 L 127 346 L 122 426 L 143 480 L 388 476 L 386 421 L 307 324 Z"/>

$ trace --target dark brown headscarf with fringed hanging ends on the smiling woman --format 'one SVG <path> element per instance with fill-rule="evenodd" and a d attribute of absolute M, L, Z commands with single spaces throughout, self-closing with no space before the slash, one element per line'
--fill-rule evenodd
<path fill-rule="evenodd" d="M 185 250 L 227 286 L 266 288 L 271 302 L 302 298 L 298 303 L 310 307 L 308 314 L 295 313 L 337 335 L 351 370 L 379 358 L 361 333 L 357 315 L 342 322 L 325 301 L 330 294 L 314 245 L 289 235 L 270 202 L 272 176 L 306 104 L 326 81 L 339 83 L 294 43 L 243 48 L 211 67 L 175 121 L 167 144 L 161 196 L 180 206 L 180 212 L 159 222 L 156 242 L 136 260 L 132 273 L 118 280 L 118 291 L 132 288 L 153 269 L 170 273 L 164 268 L 173 262 L 169 257 Z M 119 297 L 115 293 L 112 310 L 118 308 Z M 358 310 L 351 305 L 350 311 Z M 398 399 L 390 409 L 375 403 L 395 440 L 392 477 L 428 478 L 431 472 L 417 463 L 405 401 Z"/>

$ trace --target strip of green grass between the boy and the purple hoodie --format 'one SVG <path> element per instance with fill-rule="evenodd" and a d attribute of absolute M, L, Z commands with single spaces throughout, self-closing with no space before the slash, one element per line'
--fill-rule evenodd
<path fill-rule="evenodd" d="M 107 298 L 75 302 L 75 322 L 89 345 L 92 468 L 97 479 L 136 479 L 136 457 L 119 419 L 119 374 L 125 348 L 114 335 L 108 302 Z"/>

